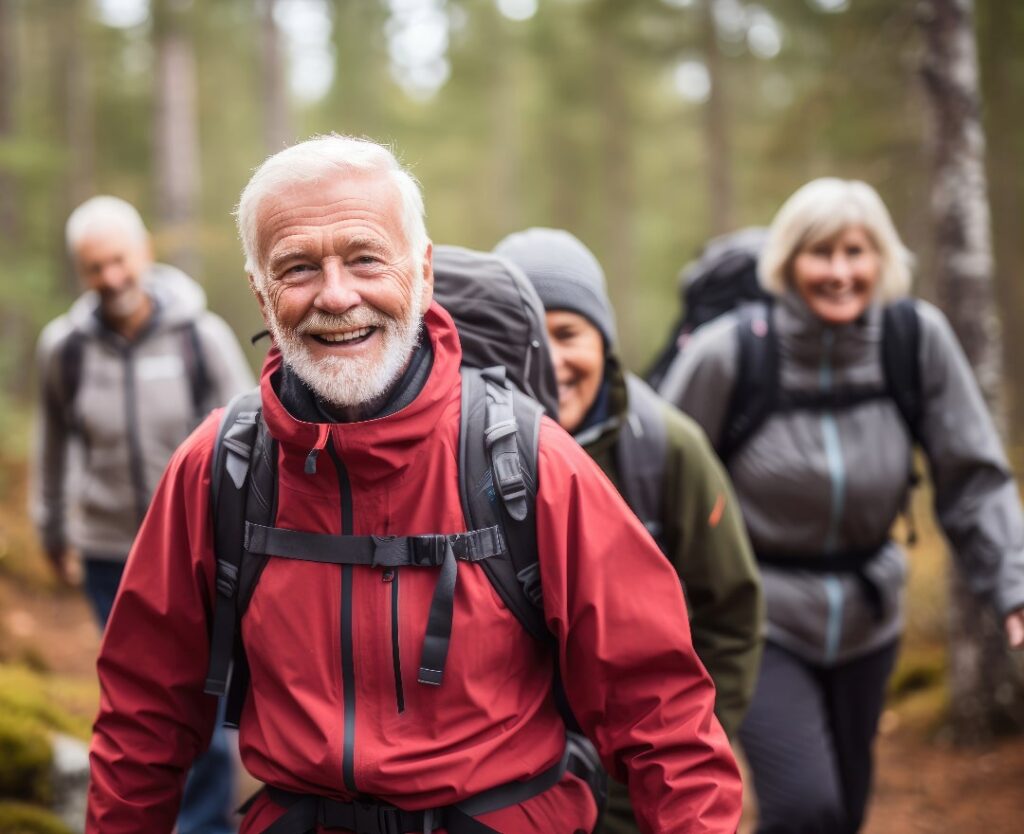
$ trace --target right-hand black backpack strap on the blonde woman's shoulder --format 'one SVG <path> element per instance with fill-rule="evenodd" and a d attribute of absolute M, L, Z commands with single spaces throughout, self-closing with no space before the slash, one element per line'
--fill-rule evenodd
<path fill-rule="evenodd" d="M 882 368 L 888 395 L 914 443 L 922 444 L 921 320 L 911 298 L 889 304 L 883 312 Z"/>

